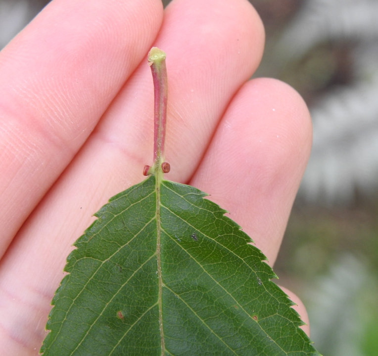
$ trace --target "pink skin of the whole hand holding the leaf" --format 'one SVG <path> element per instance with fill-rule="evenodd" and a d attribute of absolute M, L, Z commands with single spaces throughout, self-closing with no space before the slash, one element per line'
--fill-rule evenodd
<path fill-rule="evenodd" d="M 288 85 L 247 81 L 264 46 L 252 6 L 53 0 L 0 53 L 1 355 L 38 355 L 72 243 L 152 164 L 152 46 L 167 53 L 166 178 L 211 194 L 275 262 L 312 128 Z"/>

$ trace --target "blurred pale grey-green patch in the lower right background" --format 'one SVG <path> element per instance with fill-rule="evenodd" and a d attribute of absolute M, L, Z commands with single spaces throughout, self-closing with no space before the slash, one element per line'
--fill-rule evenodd
<path fill-rule="evenodd" d="M 372 280 L 362 261 L 347 254 L 331 266 L 309 291 L 311 339 L 323 355 L 363 356 L 360 350 L 364 328 L 360 317 L 363 295 Z"/>

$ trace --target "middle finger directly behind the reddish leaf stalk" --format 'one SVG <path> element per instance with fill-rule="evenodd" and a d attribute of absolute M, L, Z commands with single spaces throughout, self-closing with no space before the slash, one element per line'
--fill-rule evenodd
<path fill-rule="evenodd" d="M 175 1 L 167 10 L 157 44 L 171 58 L 167 59 L 169 100 L 175 104 L 169 108 L 171 138 L 166 150 L 174 152 L 170 162 L 177 169 L 170 176 L 188 180 L 220 115 L 257 66 L 263 30 L 244 0 Z M 190 65 L 183 54 L 193 51 L 198 58 Z M 10 345 L 9 335 L 18 333 L 13 349 L 7 350 L 26 350 L 41 342 L 49 301 L 62 278 L 70 245 L 88 226 L 89 215 L 112 194 L 142 180 L 142 167 L 152 156 L 152 112 L 151 74 L 143 64 L 7 251 L 0 267 L 1 287 L 6 288 L 0 296 L 6 300 L 0 311 L 7 330 L 5 342 Z M 173 139 L 175 133 L 181 136 Z"/>

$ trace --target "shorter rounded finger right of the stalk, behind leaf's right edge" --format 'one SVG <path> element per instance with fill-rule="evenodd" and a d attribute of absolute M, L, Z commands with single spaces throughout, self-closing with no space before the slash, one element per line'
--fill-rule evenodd
<path fill-rule="evenodd" d="M 190 184 L 230 212 L 272 266 L 310 154 L 302 98 L 273 79 L 236 94 Z"/>

